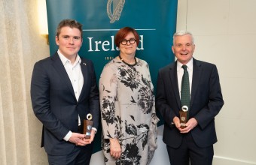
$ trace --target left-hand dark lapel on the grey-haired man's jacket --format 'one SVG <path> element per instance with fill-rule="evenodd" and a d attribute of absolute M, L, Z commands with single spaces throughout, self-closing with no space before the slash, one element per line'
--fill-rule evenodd
<path fill-rule="evenodd" d="M 176 98 L 178 107 L 181 107 L 181 99 L 178 92 L 178 76 L 177 76 L 177 61 L 174 65 L 170 66 L 169 69 L 169 79 L 171 81 L 171 86 L 169 90 L 173 90 Z"/>

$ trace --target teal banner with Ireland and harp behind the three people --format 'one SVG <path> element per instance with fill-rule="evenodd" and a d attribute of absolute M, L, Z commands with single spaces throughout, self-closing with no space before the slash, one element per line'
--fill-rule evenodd
<path fill-rule="evenodd" d="M 148 62 L 156 89 L 159 68 L 174 61 L 172 34 L 176 30 L 178 0 L 46 0 L 50 55 L 58 49 L 56 26 L 63 19 L 83 24 L 83 46 L 79 55 L 90 58 L 97 80 L 103 66 L 119 55 L 114 35 L 124 26 L 136 28 L 140 35 L 136 57 Z M 99 81 L 98 81 L 99 82 Z M 163 124 L 160 120 L 159 125 Z M 101 128 L 100 128 L 101 129 Z M 100 138 L 101 133 L 96 133 Z M 96 139 L 98 140 L 98 139 Z M 94 151 L 100 150 L 100 141 Z"/>

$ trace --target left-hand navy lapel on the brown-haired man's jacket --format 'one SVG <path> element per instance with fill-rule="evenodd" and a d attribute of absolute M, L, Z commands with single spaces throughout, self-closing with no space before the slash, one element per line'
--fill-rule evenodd
<path fill-rule="evenodd" d="M 69 91 L 72 93 L 73 97 L 75 98 L 74 89 L 69 79 L 69 75 L 67 74 L 66 69 L 64 68 L 57 52 L 53 55 L 52 59 L 53 59 L 53 68 L 55 68 L 56 71 L 59 73 L 59 76 L 61 77 L 62 82 L 66 83 L 66 86 L 68 87 Z"/>

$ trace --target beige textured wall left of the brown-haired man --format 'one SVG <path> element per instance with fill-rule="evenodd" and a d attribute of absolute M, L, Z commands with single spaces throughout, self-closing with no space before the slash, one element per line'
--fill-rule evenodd
<path fill-rule="evenodd" d="M 47 164 L 30 101 L 36 61 L 49 56 L 35 0 L 0 1 L 0 164 Z"/>

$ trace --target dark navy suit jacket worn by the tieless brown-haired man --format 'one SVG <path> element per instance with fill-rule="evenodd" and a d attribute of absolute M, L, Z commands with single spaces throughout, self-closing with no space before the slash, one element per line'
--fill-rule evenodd
<path fill-rule="evenodd" d="M 42 143 L 48 154 L 69 154 L 75 144 L 63 138 L 71 130 L 78 132 L 78 114 L 81 125 L 88 113 L 93 115 L 93 127 L 99 124 L 99 89 L 93 62 L 81 58 L 84 86 L 78 101 L 69 76 L 57 52 L 35 63 L 32 83 L 32 107 L 43 123 Z"/>

